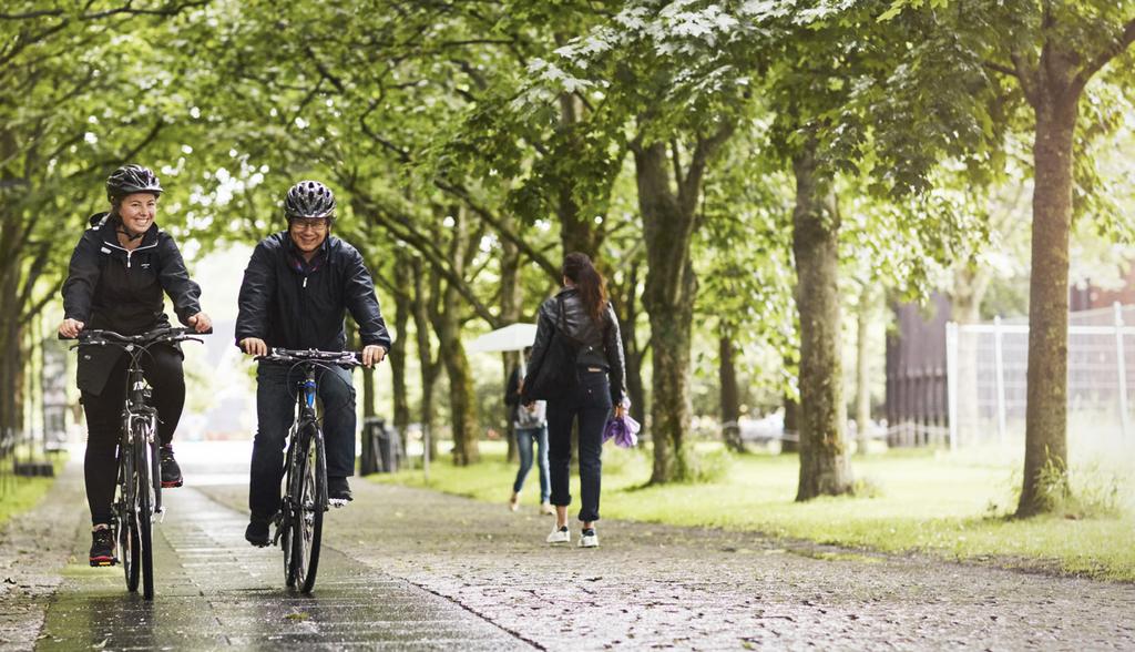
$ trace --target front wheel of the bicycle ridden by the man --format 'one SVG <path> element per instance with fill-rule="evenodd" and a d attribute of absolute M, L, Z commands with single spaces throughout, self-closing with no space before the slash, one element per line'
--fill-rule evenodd
<path fill-rule="evenodd" d="M 318 427 L 311 426 L 300 449 L 302 475 L 299 494 L 293 494 L 297 509 L 292 528 L 292 557 L 295 560 L 295 583 L 303 593 L 311 593 L 319 570 L 319 546 L 323 534 L 323 512 L 327 510 L 327 460 L 323 437 Z"/>

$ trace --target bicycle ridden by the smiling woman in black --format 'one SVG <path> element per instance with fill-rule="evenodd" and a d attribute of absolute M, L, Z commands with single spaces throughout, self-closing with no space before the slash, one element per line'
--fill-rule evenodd
<path fill-rule="evenodd" d="M 149 404 L 150 387 L 142 371 L 142 356 L 159 343 L 173 344 L 192 340 L 204 342 L 192 328 L 162 327 L 141 335 L 121 335 L 114 331 L 83 331 L 78 346 L 118 346 L 131 356 L 127 371 L 126 403 L 123 406 L 123 431 L 118 444 L 118 487 L 115 503 L 115 528 L 118 551 L 115 559 L 101 566 L 114 566 L 121 560 L 126 588 L 153 600 L 153 530 L 152 525 L 165 518 L 161 504 L 161 445 L 158 433 L 158 410 Z M 65 338 L 65 337 L 60 337 Z M 95 563 L 92 562 L 92 566 Z"/>

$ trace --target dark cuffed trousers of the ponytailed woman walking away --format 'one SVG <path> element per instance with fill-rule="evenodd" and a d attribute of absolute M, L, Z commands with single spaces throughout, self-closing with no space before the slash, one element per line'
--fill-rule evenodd
<path fill-rule="evenodd" d="M 579 384 L 563 396 L 548 399 L 548 466 L 552 470 L 552 504 L 571 504 L 571 426 L 579 419 L 579 520 L 599 520 L 603 475 L 603 428 L 611 415 L 611 388 L 606 371 L 579 373 Z"/>

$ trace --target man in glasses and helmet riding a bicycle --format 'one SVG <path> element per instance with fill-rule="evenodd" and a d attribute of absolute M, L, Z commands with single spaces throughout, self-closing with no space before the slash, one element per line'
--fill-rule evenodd
<path fill-rule="evenodd" d="M 350 310 L 362 338 L 362 362 L 381 362 L 390 337 L 375 295 L 375 283 L 359 251 L 330 235 L 335 195 L 317 181 L 302 181 L 284 198 L 287 231 L 260 241 L 241 284 L 236 343 L 250 356 L 270 348 L 343 351 L 344 312 Z M 257 436 L 252 445 L 245 540 L 269 544 L 268 528 L 279 511 L 284 478 L 284 448 L 295 420 L 299 369 L 260 362 L 257 369 Z M 351 500 L 347 477 L 354 475 L 355 392 L 351 373 L 340 367 L 321 370 L 327 444 L 328 498 Z"/>

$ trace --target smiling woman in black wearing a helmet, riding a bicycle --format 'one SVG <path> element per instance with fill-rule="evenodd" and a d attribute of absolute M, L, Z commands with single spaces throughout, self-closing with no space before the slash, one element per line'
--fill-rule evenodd
<path fill-rule="evenodd" d="M 190 279 L 182 252 L 174 239 L 154 224 L 161 192 L 153 172 L 137 165 L 123 166 L 107 179 L 110 210 L 91 217 L 91 228 L 72 253 L 62 286 L 60 335 L 76 337 L 85 328 L 138 335 L 169 326 L 163 291 L 183 324 L 197 333 L 212 327 L 209 316 L 201 311 L 201 287 Z M 149 356 L 142 357 L 158 410 L 163 487 L 182 486 L 182 470 L 170 446 L 185 403 L 182 358 L 177 346 L 167 344 L 155 344 Z M 91 566 L 110 566 L 115 561 L 110 529 L 118 468 L 115 450 L 121 432 L 128 367 L 129 356 L 117 346 L 79 346 L 76 379 L 87 426 L 84 474 L 91 508 Z"/>

